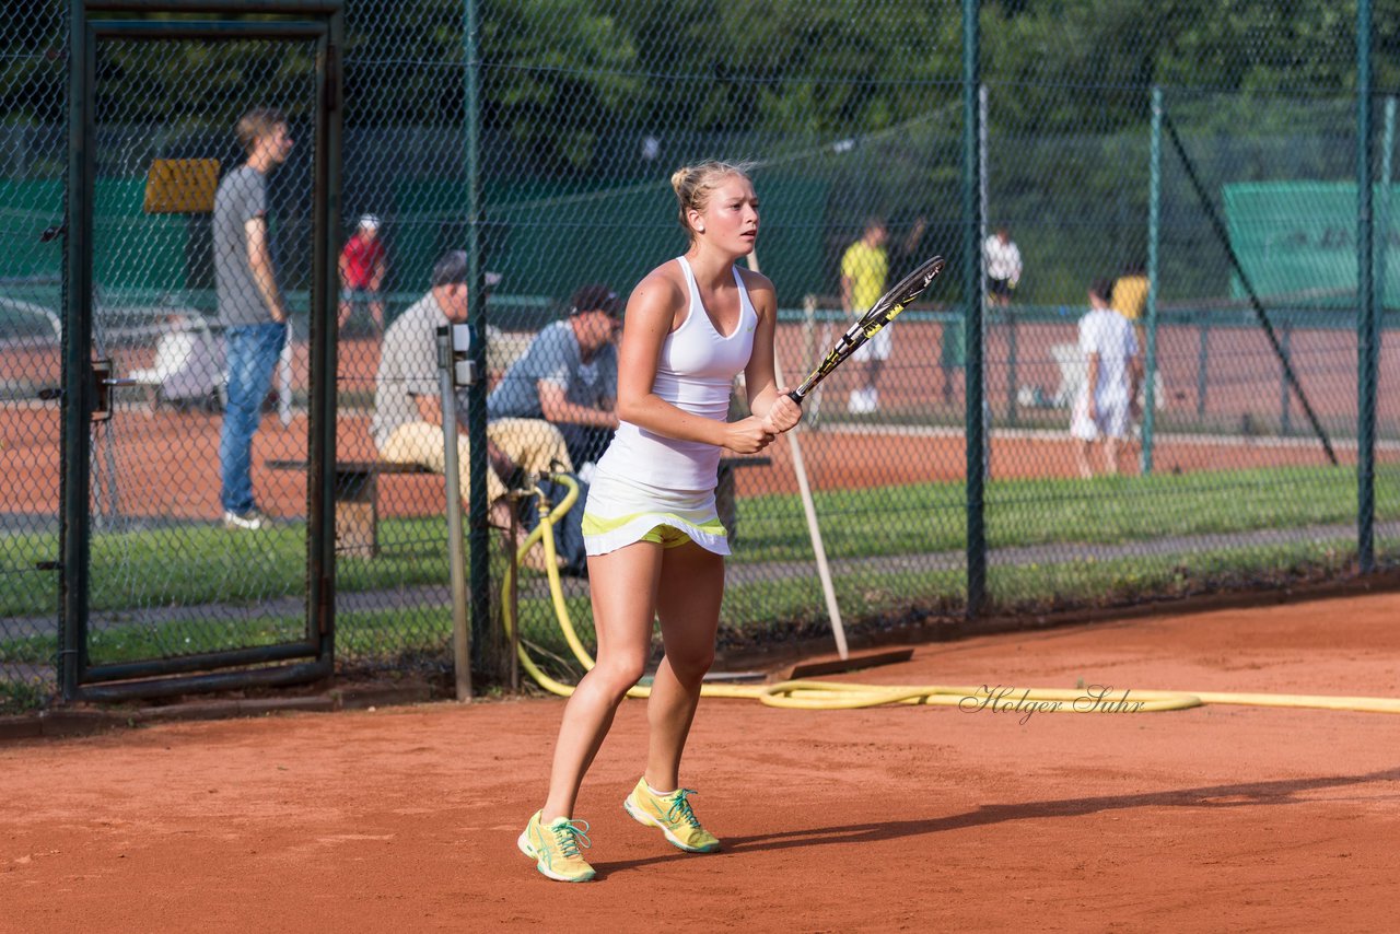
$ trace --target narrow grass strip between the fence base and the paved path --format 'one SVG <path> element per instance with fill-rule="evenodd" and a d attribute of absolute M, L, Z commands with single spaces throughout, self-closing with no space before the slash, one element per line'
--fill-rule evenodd
<path fill-rule="evenodd" d="M 1378 549 L 1383 563 L 1400 562 L 1400 542 Z M 1345 571 L 1355 562 L 1347 539 L 1301 542 L 1194 555 L 1128 556 L 1112 560 L 1070 560 L 993 567 L 988 576 L 990 612 L 1036 613 L 1067 606 L 1133 605 L 1217 590 L 1247 590 L 1294 578 L 1317 578 Z M 962 571 L 893 571 L 847 574 L 836 580 L 837 598 L 851 632 L 886 627 L 920 616 L 955 613 L 965 601 Z M 566 598 L 570 618 L 585 646 L 595 643 L 587 595 Z M 384 611 L 337 613 L 336 654 L 340 665 L 403 664 L 431 660 L 444 664 L 452 640 L 451 609 L 419 605 Z M 519 601 L 522 637 L 542 667 L 557 678 L 577 679 L 574 662 L 547 598 Z M 812 578 L 783 578 L 731 587 L 725 594 L 720 641 L 725 647 L 763 644 L 827 626 L 820 588 Z M 246 620 L 115 626 L 94 633 L 91 651 L 105 664 L 214 651 L 231 646 L 267 646 L 295 639 L 300 616 Z M 53 637 L 0 640 L 0 672 L 7 665 L 52 665 Z M 42 692 L 0 676 L 0 710 L 15 697 L 38 703 Z M 10 699 L 8 702 L 6 699 Z M 25 702 L 28 703 L 28 702 Z M 28 707 L 22 707 L 28 709 Z"/>

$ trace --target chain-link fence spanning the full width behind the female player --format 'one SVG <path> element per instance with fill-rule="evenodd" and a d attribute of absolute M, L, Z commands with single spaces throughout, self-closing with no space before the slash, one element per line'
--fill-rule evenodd
<path fill-rule="evenodd" d="M 39 235 L 63 221 L 67 106 L 66 4 L 21 6 L 0 27 L 0 224 L 14 244 L 0 258 L 0 682 L 17 696 L 50 690 L 57 646 L 52 566 L 36 566 L 59 548 L 60 421 L 35 393 L 62 377 L 62 241 Z M 668 178 L 706 157 L 753 165 L 756 259 L 777 287 L 790 382 L 858 304 L 843 300 L 864 274 L 854 244 L 883 255 L 890 281 L 927 255 L 951 260 L 890 329 L 886 360 L 847 364 L 808 400 L 799 448 L 780 440 L 721 471 L 735 539 L 724 650 L 829 626 L 798 455 L 851 629 L 960 618 L 983 559 L 981 613 L 1354 573 L 1358 398 L 1368 389 L 1357 336 L 1358 10 L 1226 6 L 988 1 L 969 31 L 952 0 L 483 0 L 473 35 L 461 3 L 349 0 L 339 668 L 451 664 L 448 497 L 435 350 L 424 335 L 458 314 L 459 277 L 434 272 L 469 246 L 473 182 L 490 358 L 483 385 L 462 392 L 463 410 L 496 393 L 498 475 L 510 473 L 507 461 L 567 461 L 587 478 L 599 434 L 589 427 L 608 424 L 615 349 L 599 339 L 608 309 L 580 305 L 610 308 L 599 298 L 609 291 L 624 302 L 647 270 L 683 252 Z M 1400 295 L 1387 97 L 1400 92 L 1400 73 L 1383 55 L 1394 52 L 1400 6 L 1376 3 L 1373 15 L 1375 293 L 1385 308 Z M 980 71 L 967 94 L 972 38 Z M 288 112 L 298 146 L 307 136 L 293 102 L 304 98 L 305 50 L 232 45 L 197 67 L 169 52 L 99 62 L 112 91 L 95 140 L 99 200 L 111 206 L 97 227 L 109 246 L 94 245 L 98 304 L 113 311 L 94 330 L 111 356 L 153 378 L 162 347 L 167 371 L 192 361 L 217 371 L 223 342 L 209 218 L 141 210 L 151 160 L 237 164 L 231 126 L 252 87 L 283 91 L 286 99 L 255 97 Z M 111 517 L 101 528 L 122 542 L 97 548 L 106 535 L 97 532 L 94 562 L 109 555 L 102 560 L 126 581 L 94 598 L 105 639 L 141 630 L 162 647 L 185 637 L 217 647 L 216 630 L 300 619 L 305 476 L 272 465 L 307 456 L 308 329 L 295 297 L 309 290 L 308 209 L 298 202 L 309 165 L 309 147 L 294 148 L 270 182 L 294 323 L 252 469 L 259 506 L 276 520 L 270 534 L 288 545 L 265 548 L 267 531 L 218 528 L 217 451 L 196 426 L 218 421 L 203 407 L 223 403 L 221 374 L 211 393 L 207 379 L 190 395 L 164 382 L 151 396 L 123 391 L 141 409 L 92 435 L 94 517 Z M 980 225 L 969 225 L 970 204 Z M 963 274 L 969 249 L 986 266 L 983 281 Z M 1099 280 L 1105 304 L 1130 318 L 1121 326 L 1086 322 Z M 598 288 L 582 301 L 588 286 Z M 1382 319 L 1376 393 L 1382 566 L 1400 555 L 1394 321 Z M 966 379 L 967 339 L 979 336 L 969 322 L 981 328 L 980 384 Z M 1100 384 L 1089 419 L 1088 377 L 1109 379 L 1130 349 L 1142 365 L 1137 399 Z M 981 419 L 986 451 L 969 458 L 967 428 Z M 137 480 L 133 465 L 155 451 L 175 465 Z M 1110 454 L 1117 476 L 1105 476 Z M 972 508 L 984 518 L 984 553 L 967 535 L 967 471 L 977 465 L 986 496 Z M 137 500 L 151 504 L 140 521 Z M 504 510 L 493 521 L 510 525 Z M 493 608 L 511 597 L 500 592 L 507 538 L 489 539 L 500 549 Z M 228 557 L 246 548 L 255 555 Z M 293 560 L 269 557 L 287 549 Z M 190 590 L 196 580 L 210 585 Z M 587 581 L 566 577 L 564 591 L 587 634 Z M 538 571 L 525 571 L 515 599 L 524 639 L 553 660 L 546 667 L 577 674 L 563 661 Z M 498 640 L 500 629 L 482 623 L 483 633 Z M 500 641 L 479 647 L 479 668 L 493 678 L 503 658 Z"/>

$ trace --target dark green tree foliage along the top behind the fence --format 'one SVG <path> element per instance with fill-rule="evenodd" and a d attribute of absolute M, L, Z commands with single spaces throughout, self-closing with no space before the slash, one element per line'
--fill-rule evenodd
<path fill-rule="evenodd" d="M 477 0 L 482 112 L 546 165 L 580 168 L 617 132 L 822 137 L 927 112 L 960 78 L 949 0 Z M 64 0 L 6 0 L 0 119 L 63 119 Z M 459 125 L 462 0 L 347 0 L 350 115 L 367 125 Z M 1400 0 L 1375 3 L 1376 84 L 1400 90 Z M 1145 119 L 1141 91 L 1247 95 L 1355 88 L 1355 3 L 1330 0 L 986 0 L 983 73 L 1014 87 L 995 119 L 1016 133 Z M 267 56 L 155 56 L 104 92 L 150 109 L 199 87 L 256 97 Z M 301 62 L 293 66 L 304 64 Z M 291 66 L 287 66 L 291 67 Z M 192 81 L 192 74 L 199 80 Z M 1064 88 L 1081 88 L 1065 94 Z M 1103 90 L 1135 88 L 1137 95 Z M 132 105 L 140 119 L 141 108 Z M 1106 111 L 1106 112 L 1105 112 Z"/>

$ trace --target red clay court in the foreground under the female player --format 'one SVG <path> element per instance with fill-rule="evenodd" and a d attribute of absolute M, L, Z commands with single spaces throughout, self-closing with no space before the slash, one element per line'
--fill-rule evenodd
<path fill-rule="evenodd" d="M 1393 594 L 920 647 L 876 683 L 1400 697 Z M 561 702 L 185 723 L 0 746 L 0 930 L 1393 928 L 1400 717 L 773 710 L 706 700 L 686 856 L 620 802 L 645 709 L 584 787 L 599 881 L 515 835 Z"/>

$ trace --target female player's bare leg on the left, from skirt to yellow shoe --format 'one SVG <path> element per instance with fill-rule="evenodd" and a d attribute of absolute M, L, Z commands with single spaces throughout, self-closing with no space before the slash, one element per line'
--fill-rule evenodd
<path fill-rule="evenodd" d="M 542 816 L 546 823 L 574 816 L 578 786 L 612 727 L 617 704 L 645 671 L 661 563 L 662 549 L 655 542 L 588 559 L 598 660 L 564 706 Z"/>

